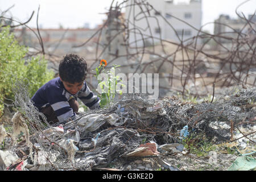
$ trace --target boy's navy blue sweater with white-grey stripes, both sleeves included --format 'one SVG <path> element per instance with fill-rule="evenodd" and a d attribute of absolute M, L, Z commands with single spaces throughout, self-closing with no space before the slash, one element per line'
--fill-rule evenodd
<path fill-rule="evenodd" d="M 77 100 L 77 97 L 88 106 L 89 109 L 96 109 L 100 105 L 100 99 L 90 91 L 86 82 L 84 82 L 79 92 L 72 95 L 64 88 L 60 77 L 53 78 L 44 84 L 36 91 L 31 100 L 34 102 L 34 106 L 38 107 L 39 111 L 42 107 L 51 105 L 57 119 L 61 122 L 73 116 L 74 113 L 68 101 L 71 98 Z"/>

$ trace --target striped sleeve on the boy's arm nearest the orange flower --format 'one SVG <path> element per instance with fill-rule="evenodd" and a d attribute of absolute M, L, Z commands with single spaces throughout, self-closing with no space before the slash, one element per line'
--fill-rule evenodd
<path fill-rule="evenodd" d="M 90 91 L 86 83 L 84 84 L 82 92 L 79 93 L 78 98 L 80 98 L 84 105 L 89 107 L 90 110 L 100 107 L 100 98 L 98 98 L 96 95 L 93 94 L 92 91 Z"/>

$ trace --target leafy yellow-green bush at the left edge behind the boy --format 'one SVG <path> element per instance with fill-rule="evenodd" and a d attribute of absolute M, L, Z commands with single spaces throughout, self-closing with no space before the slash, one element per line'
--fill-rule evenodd
<path fill-rule="evenodd" d="M 1 28 L 1 26 L 0 26 Z M 25 59 L 28 48 L 20 46 L 10 27 L 0 31 L 0 117 L 3 114 L 4 102 L 14 100 L 13 87 L 18 79 L 28 85 L 30 97 L 43 84 L 53 78 L 53 71 L 48 71 L 47 60 L 43 56 Z"/>

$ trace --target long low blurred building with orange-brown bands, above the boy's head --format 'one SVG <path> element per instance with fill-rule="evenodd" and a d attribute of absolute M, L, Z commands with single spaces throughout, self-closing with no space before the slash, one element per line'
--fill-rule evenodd
<path fill-rule="evenodd" d="M 93 48 L 75 47 L 86 42 L 95 32 L 94 29 L 39 29 L 44 49 L 47 53 L 63 56 L 67 53 L 79 53 L 81 56 L 88 56 Z M 38 30 L 36 28 L 15 29 L 14 34 L 20 44 L 40 50 Z"/>

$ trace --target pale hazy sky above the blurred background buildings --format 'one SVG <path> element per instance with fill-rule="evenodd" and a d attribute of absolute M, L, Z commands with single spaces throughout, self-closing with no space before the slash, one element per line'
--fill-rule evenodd
<path fill-rule="evenodd" d="M 188 1 L 188 0 L 175 0 Z M 28 24 L 36 27 L 36 13 L 40 5 L 39 24 L 43 28 L 57 28 L 61 24 L 64 28 L 83 27 L 89 23 L 91 28 L 102 23 L 106 18 L 104 14 L 109 8 L 112 0 L 0 0 L 0 10 L 6 10 L 12 5 L 11 14 L 24 22 L 35 11 L 34 18 Z M 116 0 L 114 1 L 117 2 Z M 118 1 L 120 2 L 120 1 Z M 203 0 L 203 20 L 202 24 L 213 22 L 220 14 L 228 14 L 236 18 L 236 7 L 245 0 Z M 238 9 L 246 16 L 253 14 L 256 10 L 256 0 L 250 0 Z M 213 25 L 204 28 L 212 31 Z"/>

